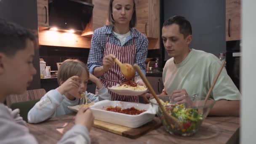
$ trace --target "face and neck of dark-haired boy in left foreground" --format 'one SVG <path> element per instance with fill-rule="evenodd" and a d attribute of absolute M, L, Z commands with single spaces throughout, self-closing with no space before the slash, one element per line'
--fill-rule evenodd
<path fill-rule="evenodd" d="M 26 48 L 16 51 L 14 56 L 0 53 L 0 84 L 4 85 L 6 93 L 24 93 L 32 82 L 33 75 L 36 74 L 33 66 L 34 43 L 31 40 L 27 40 L 26 43 Z"/>

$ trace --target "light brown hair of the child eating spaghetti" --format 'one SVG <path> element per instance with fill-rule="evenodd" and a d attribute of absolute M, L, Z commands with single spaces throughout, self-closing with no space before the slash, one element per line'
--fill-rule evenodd
<path fill-rule="evenodd" d="M 81 76 L 83 70 L 87 73 L 89 77 L 89 70 L 86 67 L 85 63 L 82 61 L 79 61 L 77 59 L 67 59 L 65 60 L 60 68 L 57 75 L 57 80 L 59 85 L 61 85 L 61 81 L 65 82 L 67 79 L 69 79 L 72 76 Z"/>

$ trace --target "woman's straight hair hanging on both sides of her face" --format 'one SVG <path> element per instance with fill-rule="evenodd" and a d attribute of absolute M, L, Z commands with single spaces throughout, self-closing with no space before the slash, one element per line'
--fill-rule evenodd
<path fill-rule="evenodd" d="M 109 26 L 113 26 L 115 24 L 115 20 L 113 19 L 113 16 L 112 16 L 112 13 L 113 13 L 113 10 L 112 10 L 112 3 L 113 3 L 114 0 L 110 0 L 109 1 L 109 10 L 108 10 L 108 17 L 107 17 L 107 25 Z M 136 26 L 136 23 L 137 23 L 137 18 L 136 18 L 136 4 L 135 4 L 135 0 L 133 0 L 133 15 L 131 17 L 131 21 L 130 21 L 130 24 L 129 24 L 129 27 L 130 28 L 133 28 Z"/>

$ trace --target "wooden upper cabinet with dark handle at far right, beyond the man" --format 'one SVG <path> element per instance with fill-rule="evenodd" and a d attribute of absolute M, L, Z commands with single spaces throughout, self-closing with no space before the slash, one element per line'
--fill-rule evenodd
<path fill-rule="evenodd" d="M 226 0 L 226 40 L 241 39 L 241 0 Z"/>

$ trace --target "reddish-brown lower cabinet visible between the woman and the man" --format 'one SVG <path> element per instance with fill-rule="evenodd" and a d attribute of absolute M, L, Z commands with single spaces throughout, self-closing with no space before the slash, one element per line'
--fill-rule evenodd
<path fill-rule="evenodd" d="M 152 85 L 156 94 L 160 94 L 163 91 L 163 78 L 162 77 L 149 77 L 147 76 L 149 83 Z"/>

